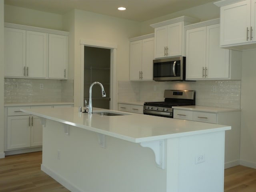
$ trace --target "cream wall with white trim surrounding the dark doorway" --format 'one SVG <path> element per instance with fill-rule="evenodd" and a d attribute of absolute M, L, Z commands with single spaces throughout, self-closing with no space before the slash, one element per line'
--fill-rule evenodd
<path fill-rule="evenodd" d="M 117 80 L 129 79 L 129 38 L 140 34 L 140 23 L 102 14 L 75 10 L 74 25 L 74 106 L 82 105 L 80 40 L 117 45 Z M 116 83 L 116 82 L 114 82 Z"/>

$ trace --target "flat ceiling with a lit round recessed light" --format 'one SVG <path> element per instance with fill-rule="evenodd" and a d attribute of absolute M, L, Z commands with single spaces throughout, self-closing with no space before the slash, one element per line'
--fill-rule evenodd
<path fill-rule="evenodd" d="M 214 1 L 216 0 L 4 0 L 4 3 L 56 14 L 80 9 L 142 22 Z M 117 10 L 120 6 L 127 10 Z"/>

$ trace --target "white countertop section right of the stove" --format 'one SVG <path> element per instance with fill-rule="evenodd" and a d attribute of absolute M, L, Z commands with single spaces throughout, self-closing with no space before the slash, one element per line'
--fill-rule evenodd
<path fill-rule="evenodd" d="M 241 109 L 235 109 L 235 108 L 208 107 L 208 106 L 199 106 L 199 105 L 173 106 L 172 108 L 181 109 L 181 110 L 193 110 L 193 111 L 200 111 L 200 112 L 213 112 L 213 113 L 232 112 L 232 111 L 241 110 Z"/>

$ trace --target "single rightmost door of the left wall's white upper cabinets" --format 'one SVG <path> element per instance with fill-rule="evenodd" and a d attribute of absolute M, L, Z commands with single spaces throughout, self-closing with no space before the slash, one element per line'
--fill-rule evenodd
<path fill-rule="evenodd" d="M 68 72 L 68 37 L 49 34 L 49 78 L 66 79 Z"/>

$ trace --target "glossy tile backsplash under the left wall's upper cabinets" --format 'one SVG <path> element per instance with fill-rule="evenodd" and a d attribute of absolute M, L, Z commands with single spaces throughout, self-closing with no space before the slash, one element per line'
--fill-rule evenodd
<path fill-rule="evenodd" d="M 73 80 L 4 78 L 4 102 L 73 102 Z"/>

